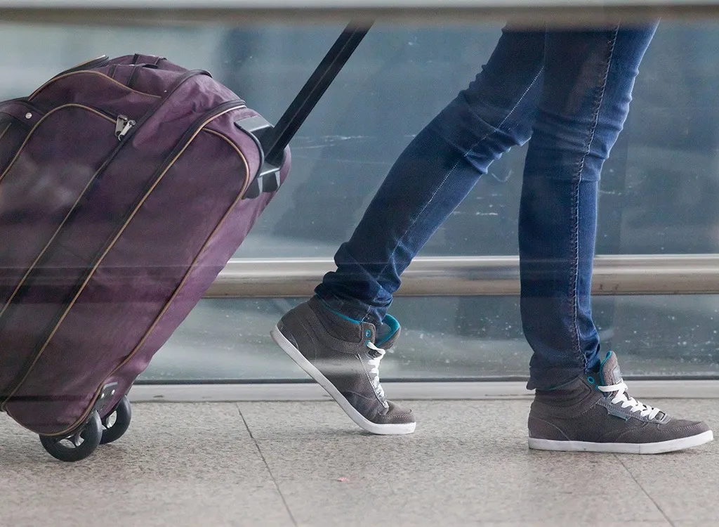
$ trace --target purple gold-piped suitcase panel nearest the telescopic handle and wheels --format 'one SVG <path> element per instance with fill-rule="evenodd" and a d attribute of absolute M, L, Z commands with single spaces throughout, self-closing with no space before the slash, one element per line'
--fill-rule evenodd
<path fill-rule="evenodd" d="M 198 134 L 106 253 L 7 412 L 37 433 L 71 428 L 147 333 L 248 179 L 237 150 Z"/>

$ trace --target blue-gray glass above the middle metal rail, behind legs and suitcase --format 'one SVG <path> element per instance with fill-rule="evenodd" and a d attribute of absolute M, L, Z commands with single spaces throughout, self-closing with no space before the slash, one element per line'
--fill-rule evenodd
<path fill-rule="evenodd" d="M 0 24 L 0 97 L 97 55 L 142 52 L 211 71 L 274 121 L 341 27 Z M 293 141 L 292 174 L 237 256 L 332 256 L 400 151 L 474 78 L 499 35 L 489 24 L 374 27 Z M 716 251 L 718 48 L 716 24 L 660 25 L 605 165 L 598 253 Z M 516 254 L 523 156 L 518 148 L 495 163 L 422 254 Z"/>

